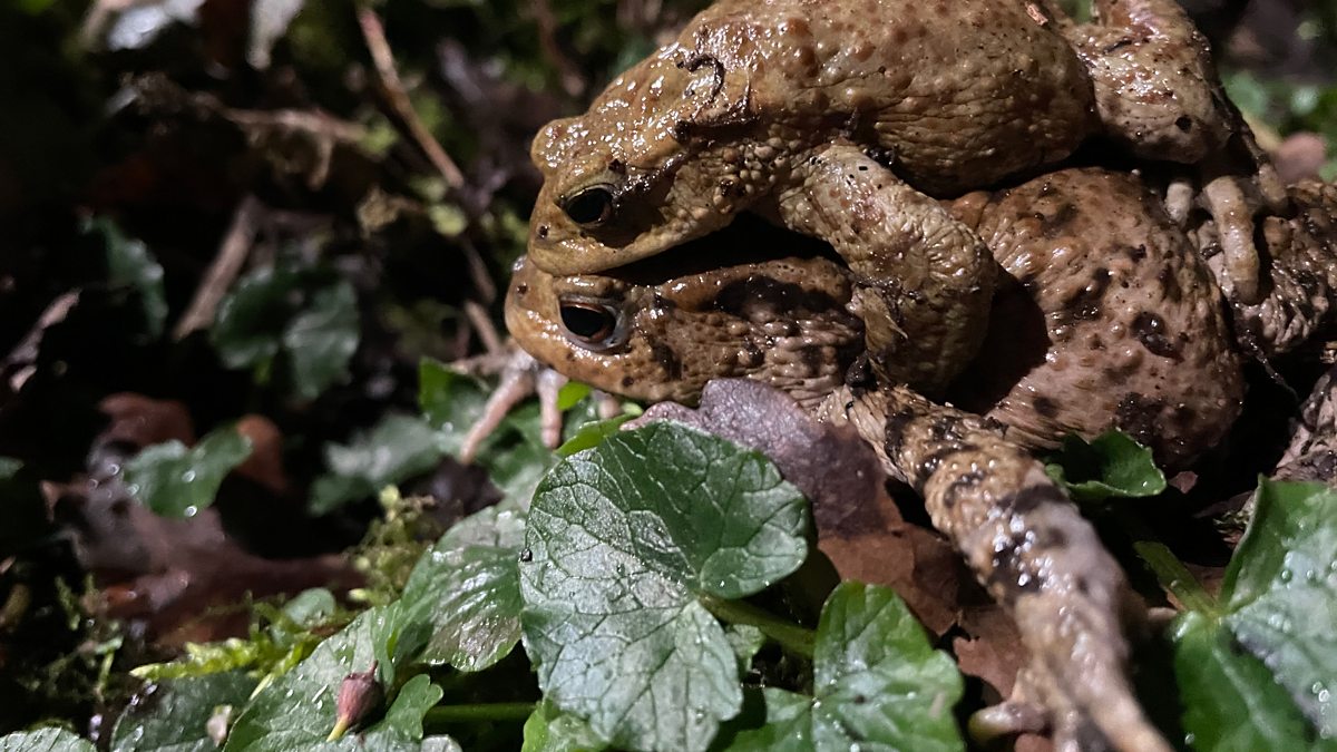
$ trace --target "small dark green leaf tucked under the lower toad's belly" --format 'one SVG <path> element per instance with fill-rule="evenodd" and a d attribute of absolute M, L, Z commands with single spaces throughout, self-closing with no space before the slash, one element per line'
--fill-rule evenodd
<path fill-rule="evenodd" d="M 1151 450 L 1120 431 L 1100 434 L 1090 444 L 1066 436 L 1044 471 L 1078 502 L 1155 496 L 1166 490 Z"/>

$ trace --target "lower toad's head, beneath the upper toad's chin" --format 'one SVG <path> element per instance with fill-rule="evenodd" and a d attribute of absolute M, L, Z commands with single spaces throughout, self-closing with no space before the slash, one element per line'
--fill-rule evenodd
<path fill-rule="evenodd" d="M 646 401 L 695 404 L 706 381 L 750 377 L 809 407 L 864 349 L 849 273 L 824 258 L 737 264 L 673 280 L 552 277 L 521 260 L 507 328 L 564 376 Z M 607 336 L 579 337 L 563 305 L 603 309 Z"/>

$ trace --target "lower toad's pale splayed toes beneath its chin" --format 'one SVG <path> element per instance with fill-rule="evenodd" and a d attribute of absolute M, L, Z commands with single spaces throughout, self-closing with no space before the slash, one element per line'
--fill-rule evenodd
<path fill-rule="evenodd" d="M 562 443 L 562 409 L 558 408 L 558 392 L 566 385 L 566 376 L 539 363 L 515 343 L 507 343 L 507 348 L 500 353 L 456 361 L 452 368 L 469 376 L 500 377 L 496 389 L 483 407 L 483 413 L 464 435 L 457 458 L 461 463 L 473 462 L 483 442 L 531 395 L 539 397 L 539 430 L 543 446 L 552 450 Z M 612 417 L 620 409 L 616 400 L 608 395 L 599 392 L 599 399 L 602 417 Z"/>

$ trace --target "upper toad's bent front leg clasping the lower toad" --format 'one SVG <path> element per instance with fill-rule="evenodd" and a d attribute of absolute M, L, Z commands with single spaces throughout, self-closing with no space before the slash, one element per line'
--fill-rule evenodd
<path fill-rule="evenodd" d="M 984 242 L 854 146 L 809 157 L 796 177 L 763 210 L 849 264 L 880 376 L 943 388 L 984 339 L 997 268 Z"/>

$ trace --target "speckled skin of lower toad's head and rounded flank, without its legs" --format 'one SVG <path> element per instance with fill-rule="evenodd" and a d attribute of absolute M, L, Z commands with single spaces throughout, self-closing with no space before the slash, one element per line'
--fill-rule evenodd
<path fill-rule="evenodd" d="M 1167 466 L 1230 428 L 1243 387 L 1219 292 L 1136 178 L 1064 170 L 963 197 L 951 210 L 988 240 L 1003 280 L 984 349 L 948 391 L 955 404 L 1032 448 L 1118 427 Z M 729 376 L 812 403 L 861 351 L 857 286 L 825 258 L 730 265 L 654 286 L 620 274 L 554 277 L 521 262 L 507 325 L 572 379 L 686 404 Z M 721 290 L 730 290 L 725 300 Z M 564 332 L 562 301 L 616 310 L 620 335 L 591 349 Z"/>

